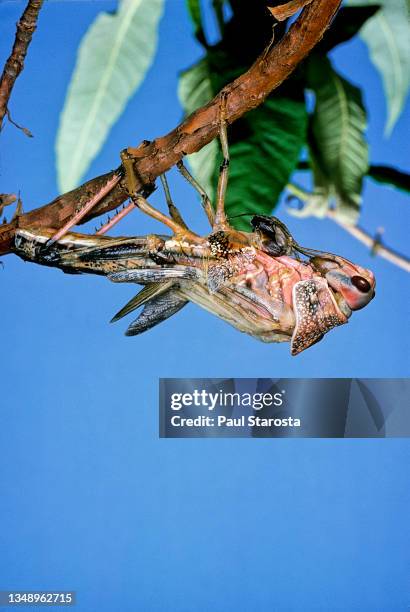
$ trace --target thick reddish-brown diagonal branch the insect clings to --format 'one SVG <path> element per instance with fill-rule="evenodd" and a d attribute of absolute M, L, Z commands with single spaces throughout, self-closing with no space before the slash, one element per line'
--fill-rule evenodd
<path fill-rule="evenodd" d="M 322 38 L 339 5 L 340 0 L 311 2 L 276 46 L 268 47 L 247 72 L 223 89 L 228 123 L 259 106 L 291 74 Z M 135 160 L 138 190 L 144 187 L 152 189 L 156 177 L 169 170 L 184 155 L 199 151 L 218 135 L 220 100 L 221 92 L 166 136 L 153 142 L 144 141 L 137 148 L 128 148 L 128 153 Z M 11 252 L 17 223 L 19 227 L 61 227 L 79 205 L 99 191 L 114 173 L 109 172 L 88 181 L 50 204 L 20 216 L 14 224 L 0 226 L 0 254 Z M 117 185 L 83 222 L 116 208 L 127 197 L 125 186 Z"/>

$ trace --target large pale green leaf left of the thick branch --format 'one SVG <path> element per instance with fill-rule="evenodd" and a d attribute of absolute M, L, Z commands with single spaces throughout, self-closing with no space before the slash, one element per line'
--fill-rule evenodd
<path fill-rule="evenodd" d="M 81 41 L 57 134 L 62 192 L 80 182 L 150 67 L 164 0 L 121 0 Z"/>

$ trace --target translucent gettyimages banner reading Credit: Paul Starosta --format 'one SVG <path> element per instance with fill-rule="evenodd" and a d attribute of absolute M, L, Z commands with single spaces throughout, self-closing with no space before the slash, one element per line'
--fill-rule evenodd
<path fill-rule="evenodd" d="M 161 438 L 410 437 L 410 379 L 162 378 Z"/>

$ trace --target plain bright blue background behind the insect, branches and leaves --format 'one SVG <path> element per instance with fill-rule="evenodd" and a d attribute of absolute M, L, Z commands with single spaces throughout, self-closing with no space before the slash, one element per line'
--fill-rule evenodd
<path fill-rule="evenodd" d="M 0 192 L 25 209 L 56 195 L 54 141 L 81 37 L 115 2 L 49 2 L 0 137 Z M 0 62 L 24 4 L 0 3 Z M 201 50 L 183 0 L 167 0 L 155 63 L 88 178 L 181 119 L 178 72 Z M 381 82 L 355 40 L 335 65 L 365 86 L 373 163 L 402 169 L 409 105 L 383 137 Z M 195 195 L 171 172 L 189 223 Z M 153 201 L 159 203 L 161 194 Z M 361 225 L 409 252 L 409 201 L 366 183 Z M 278 214 L 306 246 L 377 277 L 377 297 L 297 358 L 189 306 L 137 338 L 111 316 L 135 292 L 4 258 L 0 590 L 75 589 L 81 612 L 394 610 L 409 605 L 406 440 L 159 440 L 158 377 L 399 377 L 409 373 L 408 275 L 330 221 Z M 130 215 L 118 233 L 161 231 Z"/>

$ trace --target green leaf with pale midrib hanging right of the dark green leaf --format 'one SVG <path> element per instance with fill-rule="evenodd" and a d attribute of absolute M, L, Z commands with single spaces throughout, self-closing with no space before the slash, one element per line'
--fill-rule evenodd
<path fill-rule="evenodd" d="M 327 58 L 311 57 L 309 86 L 316 95 L 310 147 L 336 199 L 336 212 L 357 221 L 363 176 L 368 169 L 366 112 L 360 90 L 333 70 Z"/>

